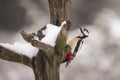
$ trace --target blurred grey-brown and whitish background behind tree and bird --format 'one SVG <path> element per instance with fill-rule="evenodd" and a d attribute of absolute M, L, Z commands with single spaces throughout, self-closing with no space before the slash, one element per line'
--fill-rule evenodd
<path fill-rule="evenodd" d="M 69 36 L 77 27 L 90 35 L 61 80 L 120 80 L 120 0 L 72 0 Z M 36 32 L 49 23 L 47 0 L 0 0 L 0 43 L 25 42 L 19 31 Z M 68 37 L 69 37 L 68 36 Z M 32 69 L 0 60 L 0 80 L 34 80 Z"/>

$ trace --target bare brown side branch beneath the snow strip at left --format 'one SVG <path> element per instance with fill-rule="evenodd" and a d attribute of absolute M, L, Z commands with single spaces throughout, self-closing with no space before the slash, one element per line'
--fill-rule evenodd
<path fill-rule="evenodd" d="M 32 67 L 31 59 L 25 55 L 18 54 L 12 50 L 4 48 L 0 45 L 0 58 L 7 61 L 17 62 Z"/>

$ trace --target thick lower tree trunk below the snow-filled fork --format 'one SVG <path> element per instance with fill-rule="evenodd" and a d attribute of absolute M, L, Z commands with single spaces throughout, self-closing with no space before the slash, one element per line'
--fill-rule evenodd
<path fill-rule="evenodd" d="M 51 62 L 49 62 L 45 54 L 44 51 L 39 51 L 38 55 L 33 58 L 32 65 L 35 73 L 35 80 L 60 80 L 60 64 L 57 65 L 55 57 L 50 58 Z"/>

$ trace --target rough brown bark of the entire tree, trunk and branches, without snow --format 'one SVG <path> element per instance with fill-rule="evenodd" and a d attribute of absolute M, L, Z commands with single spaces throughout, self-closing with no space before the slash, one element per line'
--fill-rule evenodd
<path fill-rule="evenodd" d="M 67 24 L 63 26 L 57 37 L 55 47 L 33 40 L 33 35 L 25 31 L 21 31 L 24 40 L 39 48 L 38 54 L 31 60 L 24 55 L 18 55 L 13 51 L 0 47 L 0 58 L 22 63 L 30 67 L 32 65 L 35 80 L 60 80 L 59 68 L 62 60 L 64 60 L 66 38 L 71 26 L 68 16 L 70 0 L 48 0 L 48 2 L 50 8 L 50 23 L 59 26 L 61 22 L 67 21 Z M 44 37 L 41 31 L 42 30 L 39 30 L 37 33 L 39 39 Z"/>

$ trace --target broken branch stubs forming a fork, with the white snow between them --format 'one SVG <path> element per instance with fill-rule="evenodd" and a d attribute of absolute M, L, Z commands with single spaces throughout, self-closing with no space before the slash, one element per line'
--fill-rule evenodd
<path fill-rule="evenodd" d="M 37 47 L 40 51 L 48 53 L 55 48 L 55 53 L 64 57 L 64 48 L 70 27 L 71 22 L 68 20 L 63 21 L 60 26 L 47 24 L 37 34 L 28 34 L 25 31 L 21 31 L 21 35 L 24 40 L 31 43 L 32 46 Z"/>

